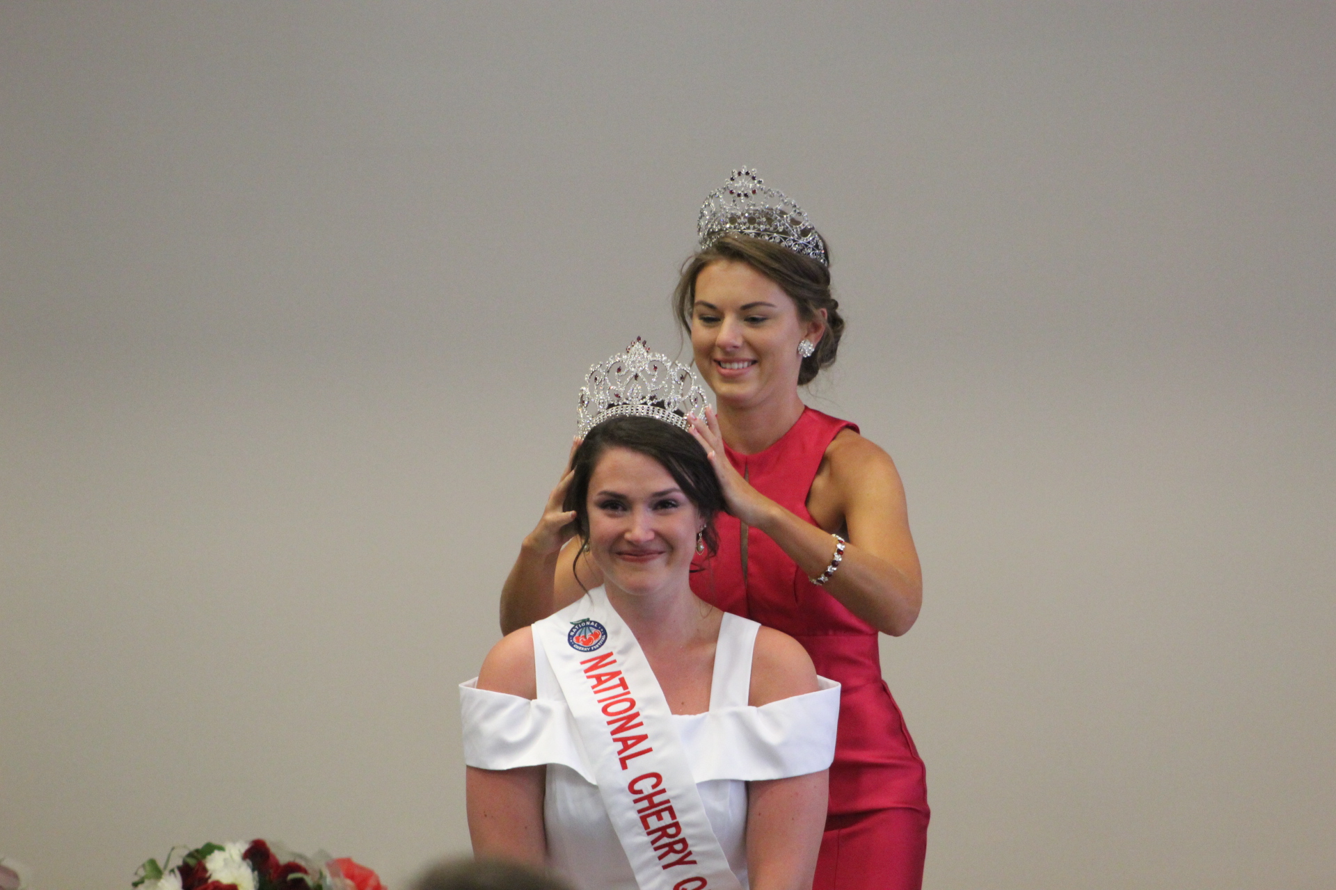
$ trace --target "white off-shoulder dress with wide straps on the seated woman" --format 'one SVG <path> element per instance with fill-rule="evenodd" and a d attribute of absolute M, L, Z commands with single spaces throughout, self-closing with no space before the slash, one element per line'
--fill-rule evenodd
<path fill-rule="evenodd" d="M 839 719 L 839 683 L 826 678 L 818 678 L 815 693 L 760 707 L 747 705 L 759 628 L 754 620 L 724 612 L 709 710 L 672 718 L 709 825 L 743 887 L 748 886 L 745 782 L 828 767 Z M 545 765 L 544 817 L 552 867 L 587 890 L 636 890 L 580 730 L 537 639 L 533 659 L 537 699 L 480 690 L 477 678 L 460 685 L 464 762 L 484 770 Z"/>

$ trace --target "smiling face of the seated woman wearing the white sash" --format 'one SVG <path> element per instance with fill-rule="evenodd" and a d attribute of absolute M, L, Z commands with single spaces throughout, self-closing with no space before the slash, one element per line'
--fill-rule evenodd
<path fill-rule="evenodd" d="M 688 586 L 701 518 L 653 458 L 608 448 L 589 476 L 589 554 L 629 594 Z"/>

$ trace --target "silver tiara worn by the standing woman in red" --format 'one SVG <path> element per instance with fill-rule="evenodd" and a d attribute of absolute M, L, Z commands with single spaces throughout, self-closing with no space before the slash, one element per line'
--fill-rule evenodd
<path fill-rule="evenodd" d="M 728 232 L 783 244 L 822 266 L 830 266 L 826 242 L 812 228 L 803 208 L 783 192 L 767 188 L 755 169 L 735 169 L 728 181 L 709 192 L 700 205 L 700 219 L 696 220 L 700 250 Z"/>

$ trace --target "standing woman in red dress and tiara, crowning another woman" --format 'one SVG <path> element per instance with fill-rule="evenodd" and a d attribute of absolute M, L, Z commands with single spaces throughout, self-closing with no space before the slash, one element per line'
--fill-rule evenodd
<path fill-rule="evenodd" d="M 922 575 L 891 458 L 847 420 L 808 408 L 798 387 L 835 362 L 844 322 L 830 254 L 807 215 L 754 171 L 707 197 L 700 250 L 675 310 L 719 411 L 693 434 L 727 511 L 719 552 L 700 560 L 701 599 L 796 638 L 843 686 L 830 811 L 814 887 L 918 890 L 927 849 L 923 762 L 882 679 L 878 632 L 918 618 Z M 601 582 L 562 544 L 569 474 L 525 538 L 502 591 L 502 630 L 532 623 Z"/>

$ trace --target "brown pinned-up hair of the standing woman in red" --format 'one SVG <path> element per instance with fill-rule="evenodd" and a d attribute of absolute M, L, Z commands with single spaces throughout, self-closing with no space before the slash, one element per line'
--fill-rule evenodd
<path fill-rule="evenodd" d="M 824 239 L 823 239 L 824 240 Z M 826 244 L 826 258 L 830 259 L 830 244 Z M 810 383 L 816 372 L 835 363 L 839 339 L 844 335 L 844 319 L 839 314 L 839 300 L 831 296 L 831 271 L 810 256 L 791 251 L 759 238 L 748 238 L 728 232 L 713 244 L 696 252 L 681 266 L 677 290 L 672 304 L 677 322 L 691 335 L 691 310 L 696 303 L 696 278 L 711 263 L 735 260 L 747 263 L 754 270 L 772 280 L 798 306 L 798 315 L 804 322 L 816 318 L 826 310 L 826 334 L 816 351 L 803 359 L 798 371 L 798 384 Z"/>

